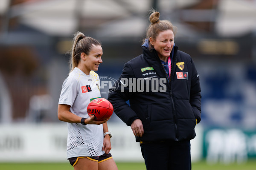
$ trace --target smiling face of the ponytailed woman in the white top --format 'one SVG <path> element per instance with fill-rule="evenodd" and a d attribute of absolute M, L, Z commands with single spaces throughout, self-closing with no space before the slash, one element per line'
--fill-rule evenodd
<path fill-rule="evenodd" d="M 102 63 L 102 54 L 102 47 L 93 44 L 93 48 L 88 55 L 81 53 L 81 60 L 77 67 L 87 75 L 90 74 L 91 70 L 98 71 L 99 64 Z"/>

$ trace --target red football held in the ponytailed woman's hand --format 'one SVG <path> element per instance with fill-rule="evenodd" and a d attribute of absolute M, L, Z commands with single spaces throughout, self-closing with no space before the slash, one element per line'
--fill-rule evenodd
<path fill-rule="evenodd" d="M 113 106 L 107 99 L 97 98 L 89 103 L 87 113 L 90 117 L 94 115 L 95 120 L 104 120 L 112 115 Z"/>

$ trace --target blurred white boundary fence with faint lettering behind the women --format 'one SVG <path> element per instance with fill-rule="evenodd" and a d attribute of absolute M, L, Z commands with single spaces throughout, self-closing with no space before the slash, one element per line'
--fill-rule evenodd
<path fill-rule="evenodd" d="M 144 161 L 140 145 L 135 142 L 131 127 L 108 124 L 111 154 L 115 161 Z M 191 141 L 192 161 L 202 157 L 202 128 Z M 0 125 L 0 162 L 62 162 L 66 159 L 67 124 L 2 124 Z"/>

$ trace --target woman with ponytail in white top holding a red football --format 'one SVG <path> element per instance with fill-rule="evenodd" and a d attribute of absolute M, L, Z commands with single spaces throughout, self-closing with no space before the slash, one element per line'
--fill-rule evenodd
<path fill-rule="evenodd" d="M 58 102 L 58 119 L 68 122 L 67 159 L 74 170 L 117 170 L 112 159 L 108 119 L 94 120 L 87 105 L 99 98 L 99 76 L 102 63 L 101 44 L 77 32 L 70 57 L 70 74 L 65 79 Z"/>

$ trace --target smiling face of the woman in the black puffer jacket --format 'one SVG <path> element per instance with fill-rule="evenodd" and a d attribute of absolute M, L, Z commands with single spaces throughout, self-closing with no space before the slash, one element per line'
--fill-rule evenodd
<path fill-rule="evenodd" d="M 167 62 L 167 59 L 170 56 L 174 45 L 173 31 L 162 31 L 157 35 L 155 40 L 150 37 L 149 41 L 151 45 L 154 46 L 154 49 L 157 51 L 158 57 L 164 62 Z"/>

